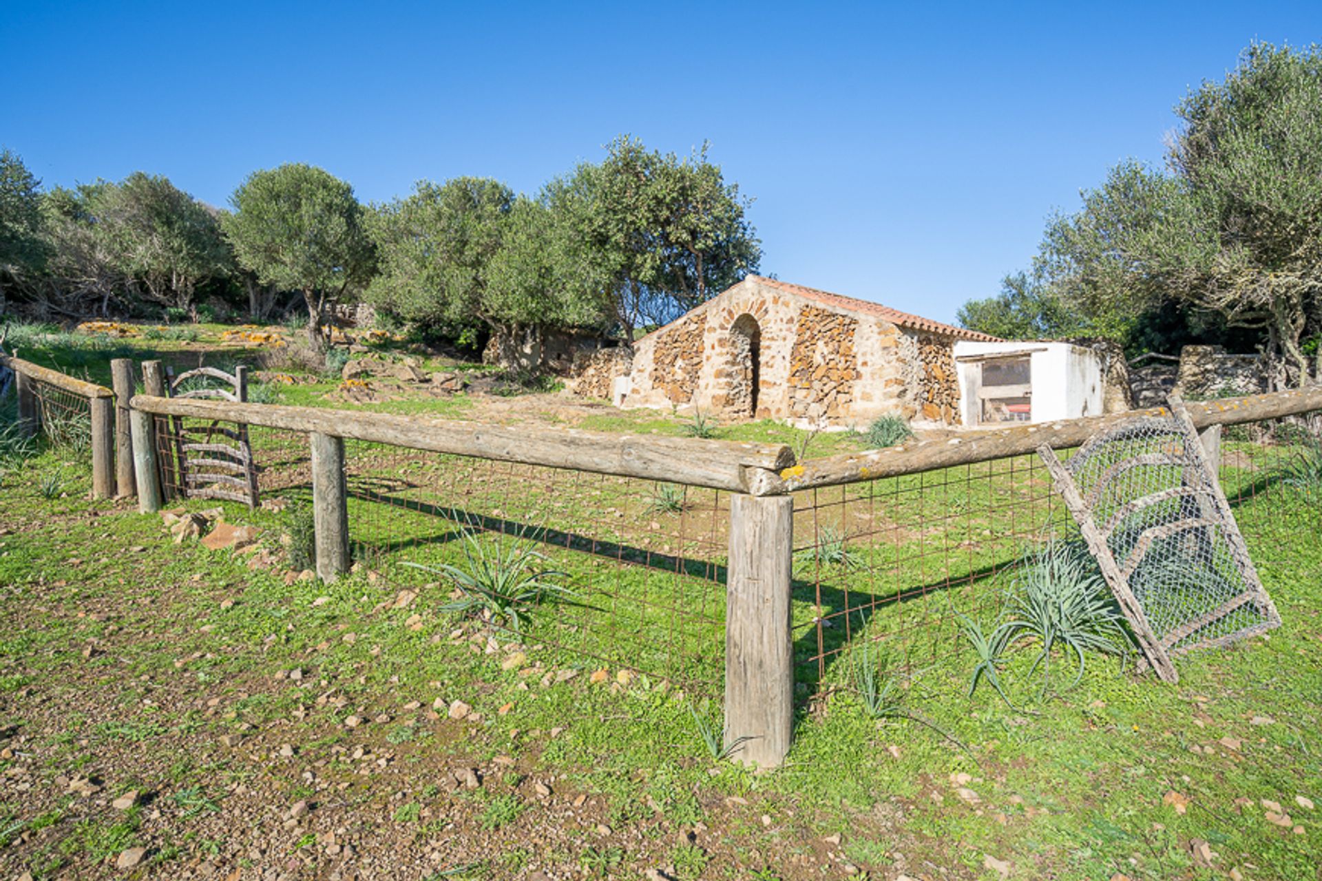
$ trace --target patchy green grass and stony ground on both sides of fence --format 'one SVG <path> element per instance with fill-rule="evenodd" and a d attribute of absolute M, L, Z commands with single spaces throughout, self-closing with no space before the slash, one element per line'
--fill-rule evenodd
<path fill-rule="evenodd" d="M 731 435 L 801 440 L 780 431 Z M 695 721 L 719 726 L 723 494 L 350 444 L 357 565 L 323 585 L 280 540 L 305 442 L 254 445 L 283 505 L 221 506 L 262 531 L 247 552 L 90 501 L 69 449 L 0 481 L 0 877 L 1317 877 L 1322 498 L 1280 479 L 1297 448 L 1231 437 L 1223 469 L 1281 629 L 1178 686 L 1088 656 L 1068 688 L 1060 655 L 1040 693 L 1019 651 L 1013 705 L 968 695 L 953 613 L 990 622 L 1062 522 L 1031 458 L 800 494 L 796 741 L 752 774 Z M 444 612 L 406 564 L 463 564 L 465 524 L 533 531 L 572 598 L 521 634 Z M 850 688 L 865 637 L 899 715 Z"/>

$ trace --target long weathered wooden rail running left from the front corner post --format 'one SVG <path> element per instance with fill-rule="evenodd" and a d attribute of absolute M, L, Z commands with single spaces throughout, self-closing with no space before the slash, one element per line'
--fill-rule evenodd
<path fill-rule="evenodd" d="M 321 407 L 152 395 L 136 395 L 131 404 L 136 411 L 159 416 L 264 425 L 436 453 L 641 477 L 752 495 L 783 493 L 776 474 L 795 462 L 793 450 L 784 444 L 607 435 L 570 428 L 489 425 Z"/>

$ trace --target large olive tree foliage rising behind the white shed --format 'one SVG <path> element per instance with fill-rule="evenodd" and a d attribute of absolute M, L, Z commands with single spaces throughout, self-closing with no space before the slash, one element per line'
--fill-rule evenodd
<path fill-rule="evenodd" d="M 1175 111 L 1166 169 L 1110 169 L 1048 221 L 1032 296 L 969 302 L 961 321 L 1018 330 L 1064 304 L 1079 330 L 1132 350 L 1247 334 L 1276 384 L 1307 382 L 1322 333 L 1322 52 L 1255 44 Z"/>

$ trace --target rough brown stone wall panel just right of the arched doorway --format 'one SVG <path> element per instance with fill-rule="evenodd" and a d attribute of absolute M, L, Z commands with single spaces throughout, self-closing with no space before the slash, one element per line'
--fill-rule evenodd
<path fill-rule="evenodd" d="M 861 375 L 854 355 L 857 333 L 857 318 L 802 306 L 789 355 L 792 419 L 838 420 L 851 409 L 854 380 Z"/>

